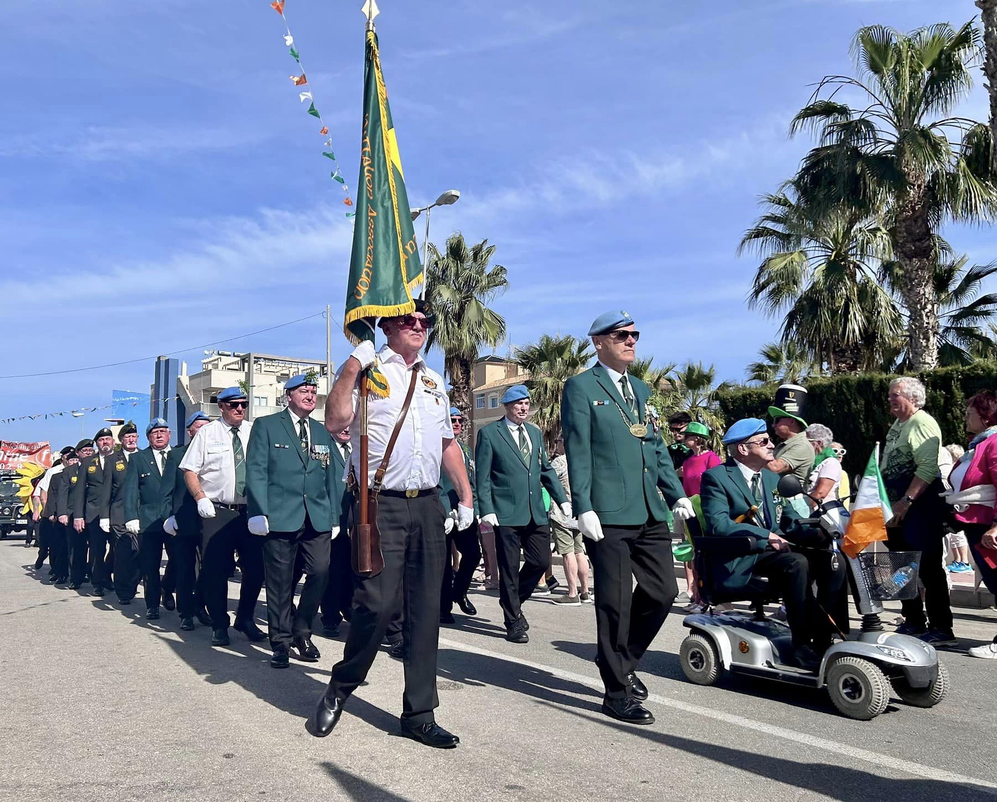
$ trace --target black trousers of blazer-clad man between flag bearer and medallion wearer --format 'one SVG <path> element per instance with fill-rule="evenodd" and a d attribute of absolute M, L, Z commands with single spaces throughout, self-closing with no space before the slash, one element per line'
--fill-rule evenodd
<path fill-rule="evenodd" d="M 519 552 L 522 568 L 519 568 Z M 531 521 L 526 526 L 499 526 L 496 529 L 498 560 L 498 605 L 508 629 L 522 613 L 536 583 L 550 567 L 550 529 Z"/>

